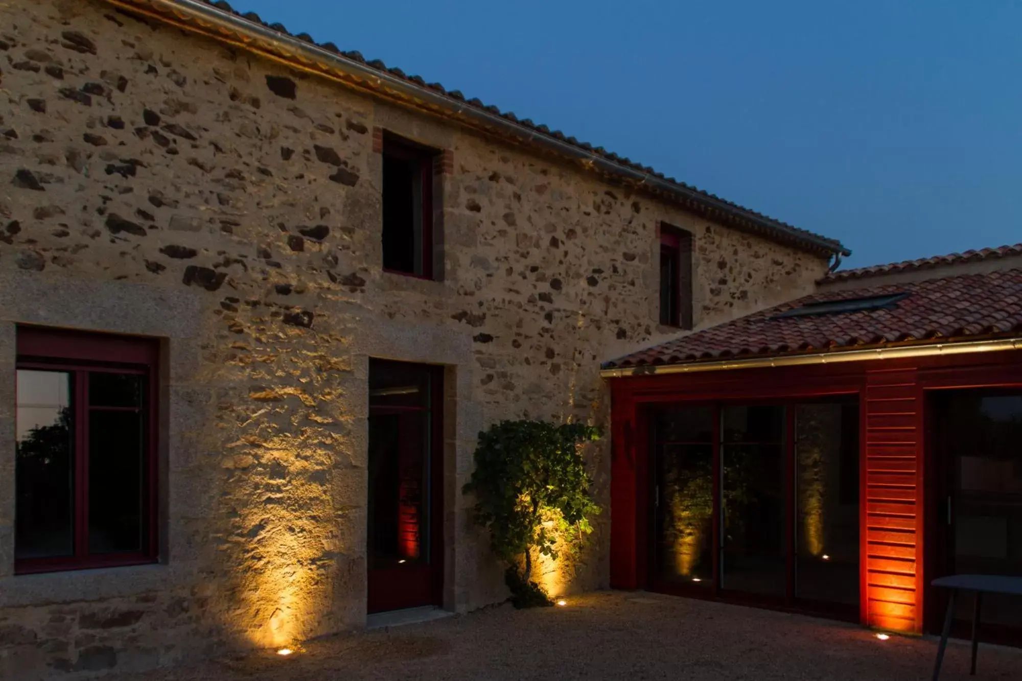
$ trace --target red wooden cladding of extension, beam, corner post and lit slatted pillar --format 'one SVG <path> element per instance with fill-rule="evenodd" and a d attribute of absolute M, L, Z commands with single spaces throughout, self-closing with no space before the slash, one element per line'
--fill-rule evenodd
<path fill-rule="evenodd" d="M 647 409 L 656 404 L 811 400 L 860 395 L 860 621 L 924 631 L 926 585 L 940 547 L 926 535 L 939 505 L 925 495 L 933 472 L 926 442 L 928 396 L 978 387 L 1022 388 L 1022 352 L 849 362 L 615 378 L 611 461 L 611 585 L 647 586 Z M 927 483 L 929 484 L 929 483 Z M 927 510 L 924 510 L 927 509 Z M 928 543 L 927 543 L 928 542 Z M 930 630 L 939 627 L 926 616 Z M 936 614 L 940 619 L 940 614 Z"/>

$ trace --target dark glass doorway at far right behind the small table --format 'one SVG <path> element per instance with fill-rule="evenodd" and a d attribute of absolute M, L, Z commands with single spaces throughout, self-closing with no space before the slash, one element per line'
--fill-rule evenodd
<path fill-rule="evenodd" d="M 1022 576 L 1022 392 L 954 391 L 929 403 L 934 491 L 927 507 L 927 582 L 946 575 Z M 939 633 L 947 594 L 929 588 L 927 628 Z M 953 634 L 969 636 L 972 599 Z M 980 636 L 1022 644 L 1022 596 L 983 597 Z"/>

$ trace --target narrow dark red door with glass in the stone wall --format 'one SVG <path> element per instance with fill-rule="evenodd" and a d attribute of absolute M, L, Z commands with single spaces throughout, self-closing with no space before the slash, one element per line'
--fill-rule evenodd
<path fill-rule="evenodd" d="M 369 360 L 368 610 L 440 605 L 443 367 Z"/>

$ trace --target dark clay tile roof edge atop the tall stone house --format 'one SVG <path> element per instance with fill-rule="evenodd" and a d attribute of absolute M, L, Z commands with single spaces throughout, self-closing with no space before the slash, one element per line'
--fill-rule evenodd
<path fill-rule="evenodd" d="M 122 7 L 139 6 L 148 12 L 154 11 L 160 15 L 160 18 L 164 18 L 168 12 L 170 12 L 168 7 L 162 6 L 160 3 L 154 3 L 153 0 L 107 1 Z M 542 138 L 548 138 L 556 140 L 557 142 L 563 143 L 568 147 L 573 147 L 579 152 L 584 152 L 591 158 L 603 160 L 608 163 L 608 167 L 613 169 L 617 175 L 625 176 L 630 172 L 633 175 L 636 173 L 645 175 L 645 180 L 643 181 L 644 184 L 654 186 L 657 181 L 664 183 L 672 190 L 672 194 L 677 196 L 684 196 L 681 202 L 688 210 L 693 211 L 698 215 L 704 215 L 709 219 L 722 220 L 726 224 L 730 224 L 738 229 L 759 233 L 768 238 L 792 243 L 802 248 L 807 248 L 814 253 L 840 254 L 844 256 L 851 255 L 851 252 L 837 239 L 822 236 L 806 229 L 795 227 L 781 220 L 777 220 L 761 213 L 744 208 L 734 201 L 729 201 L 708 191 L 704 191 L 680 180 L 676 180 L 672 177 L 666 177 L 663 173 L 659 173 L 648 166 L 636 163 L 631 158 L 620 156 L 613 151 L 608 151 L 602 146 L 593 146 L 589 142 L 579 141 L 574 137 L 565 135 L 559 130 L 551 130 L 549 127 L 543 124 L 533 123 L 529 119 L 520 119 L 512 111 L 501 111 L 497 106 L 484 104 L 477 98 L 473 97 L 468 99 L 458 90 L 448 90 L 439 83 L 428 83 L 421 76 L 409 76 L 401 69 L 387 66 L 380 59 L 367 60 L 361 52 L 354 50 L 341 50 L 331 42 L 318 43 L 308 33 L 292 34 L 288 32 L 283 24 L 267 22 L 256 12 L 242 13 L 232 7 L 226 0 L 171 0 L 171 2 L 178 5 L 183 10 L 201 11 L 202 9 L 206 9 L 206 11 L 217 12 L 222 16 L 237 19 L 252 29 L 261 31 L 269 30 L 280 37 L 294 39 L 295 41 L 306 43 L 310 48 L 329 53 L 335 59 L 346 60 L 350 63 L 368 67 L 376 74 L 400 79 L 406 85 L 419 88 L 423 92 L 438 95 L 442 100 L 447 100 L 445 101 L 445 106 L 448 108 L 457 111 L 463 111 L 466 108 L 470 110 L 475 109 L 499 117 L 509 124 L 522 128 L 523 132 L 529 139 L 540 140 Z M 178 15 L 174 16 L 172 20 L 177 21 L 184 19 L 184 15 L 178 13 Z M 288 56 L 293 56 L 293 50 Z"/>

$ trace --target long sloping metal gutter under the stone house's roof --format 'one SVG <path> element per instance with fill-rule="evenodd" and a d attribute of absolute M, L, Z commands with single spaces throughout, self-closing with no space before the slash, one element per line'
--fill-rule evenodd
<path fill-rule="evenodd" d="M 138 0 L 106 0 L 106 2 L 131 11 L 149 14 L 153 16 L 153 18 L 161 21 L 168 21 L 168 17 L 166 15 L 153 14 L 140 8 Z M 327 77 L 329 77 L 330 74 L 324 73 L 321 70 L 311 69 L 308 63 L 300 63 L 300 61 L 314 61 L 339 69 L 359 80 L 372 84 L 376 88 L 389 89 L 404 97 L 423 102 L 431 108 L 443 109 L 449 115 L 454 115 L 456 118 L 462 120 L 462 122 L 470 125 L 471 127 L 481 128 L 490 132 L 497 132 L 503 136 L 511 137 L 523 144 L 532 144 L 544 147 L 548 151 L 555 154 L 567 156 L 568 158 L 577 161 L 590 169 L 595 169 L 605 174 L 623 178 L 624 180 L 634 183 L 636 186 L 648 187 L 654 191 L 667 194 L 676 200 L 696 202 L 710 211 L 724 213 L 733 219 L 744 220 L 761 229 L 772 231 L 779 236 L 786 237 L 791 241 L 809 245 L 815 249 L 832 254 L 838 261 L 841 256 L 851 255 L 851 252 L 838 241 L 812 233 L 802 232 L 791 227 L 790 225 L 785 225 L 783 223 L 757 216 L 747 210 L 737 208 L 725 200 L 706 195 L 690 187 L 685 187 L 681 184 L 656 177 L 650 173 L 630 168 L 623 164 L 615 163 L 610 158 L 592 153 L 569 142 L 561 141 L 553 136 L 543 133 L 542 131 L 532 130 L 525 125 L 515 123 L 514 121 L 506 119 L 498 114 L 493 114 L 485 109 L 472 106 L 454 97 L 435 92 L 427 87 L 417 85 L 391 74 L 379 71 L 356 59 L 345 57 L 342 54 L 335 54 L 334 52 L 331 52 L 330 50 L 320 47 L 314 43 L 309 43 L 293 36 L 282 34 L 244 17 L 237 16 L 229 11 L 208 5 L 202 0 L 145 0 L 145 3 L 153 7 L 162 8 L 162 11 L 175 15 L 179 19 L 184 20 L 186 18 L 192 18 L 196 20 L 199 26 L 202 27 L 203 31 L 199 31 L 199 33 L 202 33 L 203 35 L 212 35 L 212 37 L 218 40 L 238 44 L 240 47 L 262 53 L 270 58 L 287 61 L 291 66 L 296 66 L 304 71 L 311 71 L 319 76 Z M 216 29 L 216 31 L 205 31 L 206 29 Z M 279 53 L 290 55 L 291 59 L 281 59 L 279 55 L 270 53 L 266 49 L 262 49 L 250 42 L 238 43 L 237 41 L 232 41 L 224 35 L 224 30 L 247 36 L 253 40 L 263 41 Z M 299 62 L 295 63 L 293 59 L 297 59 Z"/>

